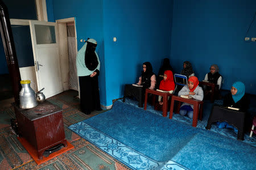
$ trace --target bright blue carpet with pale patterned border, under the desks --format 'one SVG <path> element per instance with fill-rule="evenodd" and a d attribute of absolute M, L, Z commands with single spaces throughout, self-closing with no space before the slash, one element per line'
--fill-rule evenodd
<path fill-rule="evenodd" d="M 121 101 L 69 129 L 132 169 L 256 169 L 255 147 Z"/>

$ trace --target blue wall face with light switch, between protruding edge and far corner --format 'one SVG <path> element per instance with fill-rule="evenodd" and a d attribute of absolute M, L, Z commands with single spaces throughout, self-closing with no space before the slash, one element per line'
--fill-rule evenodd
<path fill-rule="evenodd" d="M 107 105 L 123 97 L 126 83 L 138 82 L 142 63 L 157 74 L 171 47 L 172 1 L 104 1 Z M 113 41 L 117 37 L 117 41 Z"/>

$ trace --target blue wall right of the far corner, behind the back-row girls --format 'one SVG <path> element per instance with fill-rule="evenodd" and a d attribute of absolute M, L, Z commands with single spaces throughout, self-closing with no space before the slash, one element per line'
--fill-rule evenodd
<path fill-rule="evenodd" d="M 223 89 L 239 80 L 247 93 L 256 94 L 256 42 L 245 41 L 255 10 L 255 0 L 175 0 L 170 59 L 176 73 L 188 60 L 202 80 L 216 63 Z M 256 37 L 256 19 L 246 37 Z"/>

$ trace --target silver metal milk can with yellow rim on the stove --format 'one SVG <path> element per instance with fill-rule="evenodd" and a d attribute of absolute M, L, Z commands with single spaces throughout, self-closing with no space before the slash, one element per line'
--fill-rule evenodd
<path fill-rule="evenodd" d="M 22 109 L 34 108 L 38 105 L 35 91 L 30 87 L 30 80 L 21 80 L 22 90 L 19 92 L 19 107 Z"/>

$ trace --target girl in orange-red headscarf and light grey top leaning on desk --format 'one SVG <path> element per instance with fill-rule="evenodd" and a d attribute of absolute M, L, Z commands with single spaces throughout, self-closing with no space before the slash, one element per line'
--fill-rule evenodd
<path fill-rule="evenodd" d="M 178 93 L 178 96 L 184 95 L 192 97 L 192 99 L 202 101 L 204 98 L 204 92 L 199 85 L 199 80 L 196 76 L 191 76 L 188 79 L 188 85 L 185 85 Z M 193 118 L 193 105 L 188 103 L 183 103 L 180 107 L 180 114 L 185 116 L 188 114 L 189 118 Z"/>

